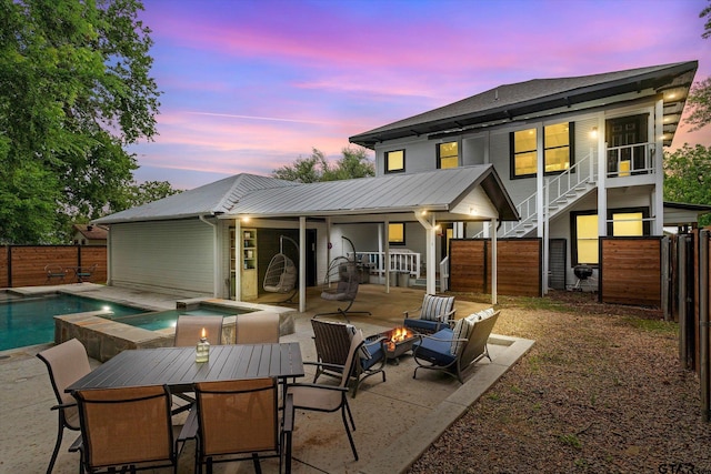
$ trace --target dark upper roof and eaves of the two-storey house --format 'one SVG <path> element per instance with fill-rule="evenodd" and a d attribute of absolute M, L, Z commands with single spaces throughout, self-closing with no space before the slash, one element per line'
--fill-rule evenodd
<path fill-rule="evenodd" d="M 629 69 L 602 74 L 559 79 L 534 79 L 504 84 L 404 120 L 351 137 L 351 143 L 374 148 L 375 143 L 404 137 L 470 129 L 507 123 L 528 114 L 629 92 L 653 90 L 654 93 L 674 91 L 664 98 L 664 124 L 671 144 L 689 88 L 699 67 L 698 61 Z"/>

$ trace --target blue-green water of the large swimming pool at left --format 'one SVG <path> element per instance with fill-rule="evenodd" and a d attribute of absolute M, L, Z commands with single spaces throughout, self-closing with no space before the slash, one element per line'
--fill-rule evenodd
<path fill-rule="evenodd" d="M 139 307 L 63 293 L 7 300 L 0 303 L 0 351 L 53 342 L 53 316 L 103 309 L 116 316 L 146 313 Z"/>

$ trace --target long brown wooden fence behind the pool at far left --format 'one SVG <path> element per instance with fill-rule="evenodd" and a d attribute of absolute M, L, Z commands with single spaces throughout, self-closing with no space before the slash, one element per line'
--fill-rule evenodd
<path fill-rule="evenodd" d="M 97 265 L 84 281 L 106 283 L 106 245 L 1 245 L 0 288 L 74 283 L 73 269 Z M 66 271 L 64 279 L 48 278 L 47 265 Z"/>

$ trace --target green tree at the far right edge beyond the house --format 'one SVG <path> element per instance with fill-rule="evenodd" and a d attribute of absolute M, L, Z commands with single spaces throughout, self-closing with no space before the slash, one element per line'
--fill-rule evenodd
<path fill-rule="evenodd" d="M 664 153 L 664 200 L 689 204 L 711 203 L 711 147 L 701 144 Z M 711 214 L 699 225 L 711 224 Z"/>

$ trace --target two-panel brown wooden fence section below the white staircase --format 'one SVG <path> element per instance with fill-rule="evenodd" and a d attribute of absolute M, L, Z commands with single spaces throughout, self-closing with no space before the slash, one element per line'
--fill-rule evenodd
<path fill-rule="evenodd" d="M 497 240 L 497 293 L 510 296 L 541 296 L 541 239 Z M 491 292 L 491 240 L 450 241 L 450 282 L 455 292 Z"/>

